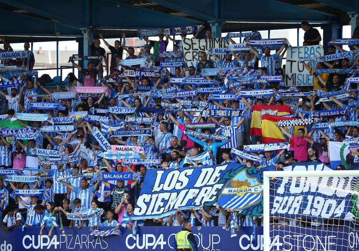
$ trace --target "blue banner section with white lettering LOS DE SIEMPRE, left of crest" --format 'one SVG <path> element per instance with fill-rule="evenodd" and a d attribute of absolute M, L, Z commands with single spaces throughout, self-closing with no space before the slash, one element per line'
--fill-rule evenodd
<path fill-rule="evenodd" d="M 161 218 L 177 208 L 213 205 L 239 166 L 229 163 L 180 170 L 149 169 L 132 219 Z"/>

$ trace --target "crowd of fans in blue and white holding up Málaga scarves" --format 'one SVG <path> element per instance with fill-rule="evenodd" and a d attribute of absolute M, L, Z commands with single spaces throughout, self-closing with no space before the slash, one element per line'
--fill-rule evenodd
<path fill-rule="evenodd" d="M 316 29 L 311 28 L 307 22 L 302 23 L 302 28 L 306 31 L 303 46 L 320 43 L 321 37 Z M 89 30 L 87 32 L 89 34 Z M 25 74 L 12 74 L 6 70 L 0 74 L 0 94 L 3 96 L 0 101 L 0 124 L 3 127 L 0 132 L 0 170 L 18 169 L 25 174 L 29 173 L 26 170 L 38 170 L 39 177 L 42 177 L 42 181 L 16 182 L 6 180 L 6 172 L 0 172 L 3 174 L 0 179 L 0 210 L 4 210 L 1 227 L 5 231 L 22 224 L 27 227 L 42 226 L 40 235 L 43 227 L 51 226 L 52 230 L 60 224 L 78 229 L 83 226 L 113 226 L 117 229 L 119 225 L 132 229 L 134 221 L 131 216 L 147 169 L 181 169 L 228 162 L 241 163 L 248 167 L 276 164 L 277 168 L 298 161 L 317 161 L 330 165 L 329 155 L 336 153 L 329 153 L 329 141 L 341 142 L 343 139 L 359 137 L 359 128 L 356 126 L 316 129 L 307 124 L 306 127 L 289 131 L 286 127 L 279 127 L 283 135 L 290 139 L 288 148 L 250 152 L 247 154 L 252 157 L 246 158 L 247 155 L 238 153 L 243 153 L 243 146 L 268 142 L 251 129 L 255 107 L 267 106 L 270 109 L 267 113 L 271 115 L 277 115 L 275 112 L 285 107 L 285 110 L 289 110 L 287 115 L 294 118 L 312 118 L 314 111 L 343 109 L 347 110 L 345 115 L 318 119 L 320 122 L 329 123 L 357 121 L 359 109 L 357 105 L 350 103 L 358 101 L 357 91 L 347 91 L 350 96 L 344 99 L 332 95 L 330 101 L 321 101 L 319 91 L 281 99 L 277 99 L 274 93 L 270 96 L 248 97 L 239 94 L 242 94 L 241 91 L 259 89 L 284 91 L 288 87 L 283 85 L 283 81 L 247 81 L 229 87 L 236 84 L 234 79 L 238 76 L 218 74 L 201 77 L 203 69 L 215 68 L 214 62 L 208 60 L 205 51 L 200 53 L 196 67 L 185 64 L 183 67 L 175 67 L 172 74 L 169 68 L 161 66 L 162 61 L 173 60 L 160 57 L 161 52 L 166 52 L 169 40 L 172 40 L 164 34 L 160 34 L 156 41 L 145 37 L 144 40 L 148 43 L 140 49 L 139 55 L 135 55 L 134 48 L 126 47 L 125 43 L 121 44 L 116 40 L 114 46 L 111 46 L 101 34 L 99 36 L 111 51 L 111 61 L 107 62 L 106 51 L 100 46 L 101 40 L 89 39 L 90 56 L 93 58 L 87 68 L 75 63 L 75 58 L 69 59 L 81 72 L 81 77 L 77 78 L 69 73 L 67 84 L 57 85 L 53 92 L 35 76 L 33 69 L 36 61 L 32 52 L 28 52 L 29 57 L 5 59 L 1 62 L 6 67 L 23 66 Z M 125 34 L 122 37 L 125 38 Z M 182 38 L 184 37 L 185 35 L 182 35 Z M 211 32 L 208 30 L 206 39 L 210 38 Z M 359 29 L 355 30 L 353 38 L 359 38 Z M 235 43 L 231 38 L 229 40 Z M 4 49 L 0 49 L 0 52 L 12 51 L 5 38 L 1 41 L 4 43 Z M 181 41 L 174 43 L 173 51 L 181 51 Z M 238 67 L 238 70 L 244 71 L 244 75 L 239 78 L 250 76 L 245 75 L 245 72 L 259 76 L 283 77 L 285 69 L 281 62 L 286 50 L 285 44 L 275 52 L 269 47 L 263 50 L 249 47 L 250 51 L 239 54 L 231 52 L 224 59 L 214 55 L 218 67 Z M 353 46 L 352 49 L 359 48 Z M 29 43 L 26 42 L 24 51 L 28 50 Z M 129 53 L 126 58 L 122 58 L 124 50 Z M 343 51 L 340 46 L 328 46 L 328 54 L 333 54 L 336 50 Z M 141 58 L 144 59 L 143 62 L 140 61 Z M 292 86 L 288 92 L 310 92 L 313 87 L 322 92 L 340 91 L 345 87 L 348 78 L 353 78 L 354 75 L 340 71 L 315 74 L 315 71 L 355 68 L 358 59 L 359 57 L 351 57 L 321 62 L 317 64 L 317 68 L 303 62 L 303 67 L 314 76 L 314 86 L 303 89 L 299 87 L 299 90 Z M 183 58 L 176 60 L 181 61 Z M 258 67 L 258 61 L 262 67 Z M 108 76 L 103 76 L 103 62 L 106 70 L 109 65 Z M 131 65 L 130 62 L 137 63 Z M 184 84 L 184 79 L 209 82 L 201 85 L 195 81 L 191 85 L 191 82 Z M 11 81 L 20 84 L 6 87 L 4 83 Z M 357 88 L 359 89 L 357 83 L 350 85 L 350 89 Z M 93 93 L 90 93 L 91 90 Z M 224 98 L 218 98 L 219 95 L 214 95 L 215 92 L 223 94 Z M 235 98 L 233 94 L 236 94 Z M 278 106 L 278 109 L 273 110 L 274 106 Z M 239 111 L 238 115 L 233 115 L 236 110 Z M 219 115 L 221 112 L 223 116 Z M 13 127 L 14 123 L 18 127 Z M 106 139 L 105 142 L 103 138 Z M 358 143 L 351 145 L 355 151 L 359 149 Z M 109 149 L 104 149 L 106 146 L 109 146 Z M 105 158 L 105 153 L 116 153 L 116 146 L 120 149 L 116 156 L 122 154 L 123 158 Z M 126 158 L 133 162 L 126 161 Z M 351 156 L 347 159 L 347 164 L 359 164 L 358 157 Z M 338 170 L 344 168 L 338 166 Z M 107 181 L 94 179 L 92 176 L 74 176 L 57 180 L 61 175 L 96 172 L 135 173 L 136 178 Z M 45 193 L 39 196 L 15 195 L 15 190 L 30 188 L 44 189 Z M 70 220 L 66 217 L 67 213 L 89 215 L 99 208 L 103 214 L 89 221 Z M 188 219 L 192 226 L 228 227 L 230 211 L 219 205 L 201 206 L 199 210 L 177 210 L 171 216 L 145 219 L 137 221 L 136 224 L 181 226 L 183 221 Z M 59 215 L 57 219 L 56 215 Z M 253 226 L 251 217 L 240 217 L 243 226 Z M 260 225 L 261 217 L 256 220 Z M 51 231 L 48 235 L 51 235 Z"/>

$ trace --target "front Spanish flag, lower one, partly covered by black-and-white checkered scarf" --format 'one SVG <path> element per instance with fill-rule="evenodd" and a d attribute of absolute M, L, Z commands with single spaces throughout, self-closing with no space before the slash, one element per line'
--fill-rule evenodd
<path fill-rule="evenodd" d="M 278 120 L 289 120 L 289 119 L 297 119 L 297 118 L 288 118 L 281 116 L 274 116 L 269 114 L 264 114 L 262 116 L 262 141 L 264 144 L 267 143 L 276 143 L 276 142 L 287 142 L 288 137 L 286 137 L 281 129 L 276 126 Z M 286 129 L 290 134 L 294 136 L 298 136 L 298 129 L 303 128 L 305 130 L 306 126 L 294 126 Z M 290 140 L 290 139 L 289 139 Z"/>

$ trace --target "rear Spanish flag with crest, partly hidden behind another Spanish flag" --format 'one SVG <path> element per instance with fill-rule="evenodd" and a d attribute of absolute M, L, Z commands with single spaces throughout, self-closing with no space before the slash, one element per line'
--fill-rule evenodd
<path fill-rule="evenodd" d="M 263 136 L 262 134 L 262 115 L 287 115 L 292 113 L 292 110 L 287 105 L 253 105 L 252 108 L 252 122 L 251 122 L 251 136 Z M 279 142 L 279 141 L 276 141 Z"/>

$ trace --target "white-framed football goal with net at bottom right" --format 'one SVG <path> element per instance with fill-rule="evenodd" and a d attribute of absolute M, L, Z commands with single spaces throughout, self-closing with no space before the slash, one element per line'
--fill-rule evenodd
<path fill-rule="evenodd" d="M 264 172 L 264 251 L 358 251 L 358 177 L 349 170 Z"/>

